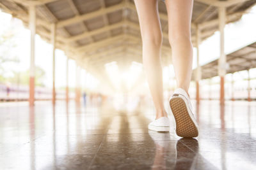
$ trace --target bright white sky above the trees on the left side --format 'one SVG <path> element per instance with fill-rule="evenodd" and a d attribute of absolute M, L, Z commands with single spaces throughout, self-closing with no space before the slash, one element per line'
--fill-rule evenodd
<path fill-rule="evenodd" d="M 20 20 L 12 18 L 12 15 L 8 13 L 0 12 L 0 20 L 2 25 L 0 27 L 0 32 L 8 29 L 9 27 L 15 27 L 16 30 L 16 43 L 15 55 L 19 57 L 20 64 L 19 67 L 6 67 L 7 70 L 25 71 L 29 69 L 30 66 L 30 31 L 26 29 Z M 44 69 L 45 85 L 47 87 L 52 86 L 52 48 L 51 44 L 42 40 L 40 36 L 36 35 L 36 45 L 35 45 L 35 64 Z M 1 47 L 0 47 L 1 48 Z M 56 87 L 65 87 L 66 83 L 66 56 L 61 50 L 56 50 Z M 70 87 L 75 87 L 76 85 L 76 63 L 74 60 L 69 62 L 69 85 Z M 60 76 L 61 75 L 61 76 Z"/>

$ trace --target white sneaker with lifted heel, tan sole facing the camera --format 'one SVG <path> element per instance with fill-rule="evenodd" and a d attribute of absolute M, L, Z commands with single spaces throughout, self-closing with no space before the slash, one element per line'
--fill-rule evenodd
<path fill-rule="evenodd" d="M 176 89 L 170 97 L 170 107 L 176 122 L 176 133 L 180 137 L 198 136 L 198 125 L 193 115 L 192 105 L 185 90 Z"/>

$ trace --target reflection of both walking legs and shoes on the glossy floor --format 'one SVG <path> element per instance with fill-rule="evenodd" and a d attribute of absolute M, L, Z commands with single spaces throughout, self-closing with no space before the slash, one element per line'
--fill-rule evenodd
<path fill-rule="evenodd" d="M 198 155 L 198 141 L 196 139 L 182 138 L 179 140 L 161 141 L 161 136 L 169 133 L 156 133 L 149 131 L 150 137 L 156 145 L 156 153 L 152 169 L 194 169 Z M 160 137 L 160 138 L 159 138 Z M 189 146 L 186 146 L 189 143 Z"/>

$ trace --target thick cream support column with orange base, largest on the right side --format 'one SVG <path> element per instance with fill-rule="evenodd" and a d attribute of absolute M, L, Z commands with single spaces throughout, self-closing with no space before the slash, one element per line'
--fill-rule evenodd
<path fill-rule="evenodd" d="M 220 104 L 225 104 L 225 74 L 226 55 L 224 47 L 224 28 L 226 24 L 226 8 L 219 7 L 219 29 L 220 29 L 220 59 L 218 62 L 218 72 L 220 76 Z"/>

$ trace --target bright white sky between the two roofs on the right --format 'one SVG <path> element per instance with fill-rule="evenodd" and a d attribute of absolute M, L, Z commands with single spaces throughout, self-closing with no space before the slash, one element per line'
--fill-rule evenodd
<path fill-rule="evenodd" d="M 225 26 L 225 53 L 231 53 L 256 41 L 256 6 L 241 20 Z M 196 50 L 194 49 L 193 68 L 196 67 Z M 206 39 L 200 45 L 200 65 L 220 56 L 220 32 Z"/>

